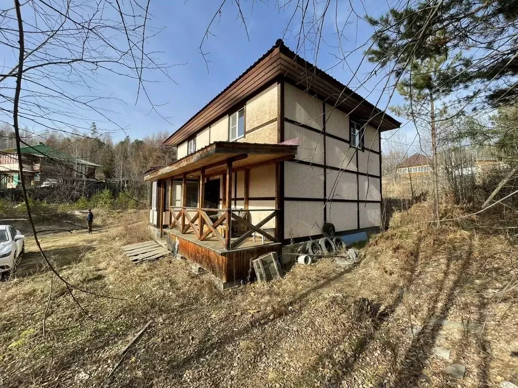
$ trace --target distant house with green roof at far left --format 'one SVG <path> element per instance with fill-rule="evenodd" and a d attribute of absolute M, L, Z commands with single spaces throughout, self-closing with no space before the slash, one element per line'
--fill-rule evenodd
<path fill-rule="evenodd" d="M 48 186 L 63 179 L 94 179 L 98 168 L 95 163 L 75 158 L 62 151 L 38 143 L 20 148 L 26 187 Z M 16 188 L 19 180 L 16 148 L 0 152 L 0 187 Z"/>

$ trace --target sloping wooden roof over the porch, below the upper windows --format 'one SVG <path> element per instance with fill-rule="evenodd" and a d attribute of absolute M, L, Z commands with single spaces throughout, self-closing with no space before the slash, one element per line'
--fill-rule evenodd
<path fill-rule="evenodd" d="M 195 153 L 185 156 L 169 166 L 150 172 L 145 181 L 156 181 L 182 174 L 197 176 L 205 167 L 205 174 L 218 175 L 226 169 L 225 163 L 233 159 L 233 171 L 262 166 L 279 160 L 293 159 L 297 146 L 292 144 L 238 143 L 217 141 L 203 147 Z"/>

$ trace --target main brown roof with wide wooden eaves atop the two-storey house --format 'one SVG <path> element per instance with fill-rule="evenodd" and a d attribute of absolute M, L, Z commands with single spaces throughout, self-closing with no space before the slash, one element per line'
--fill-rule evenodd
<path fill-rule="evenodd" d="M 180 144 L 220 120 L 230 109 L 242 103 L 258 89 L 281 78 L 318 95 L 330 105 L 336 105 L 337 108 L 368 120 L 371 125 L 379 126 L 382 131 L 399 128 L 401 125 L 395 118 L 376 108 L 346 85 L 305 61 L 287 48 L 282 39 L 278 39 L 270 50 L 196 112 L 164 144 Z"/>

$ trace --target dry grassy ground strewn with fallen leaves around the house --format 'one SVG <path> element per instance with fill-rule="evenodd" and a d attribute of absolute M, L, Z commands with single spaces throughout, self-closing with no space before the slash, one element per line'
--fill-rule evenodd
<path fill-rule="evenodd" d="M 17 271 L 0 281 L 0 386 L 518 384 L 516 247 L 498 235 L 431 228 L 427 212 L 420 204 L 396 215 L 359 265 L 294 265 L 280 280 L 223 293 L 180 259 L 128 262 L 120 247 L 149 238 L 145 212 L 100 215 L 92 235 L 41 236 L 65 279 L 103 295 L 73 290 L 81 308 L 28 238 Z M 436 347 L 450 350 L 449 360 Z M 464 378 L 443 371 L 455 363 Z"/>

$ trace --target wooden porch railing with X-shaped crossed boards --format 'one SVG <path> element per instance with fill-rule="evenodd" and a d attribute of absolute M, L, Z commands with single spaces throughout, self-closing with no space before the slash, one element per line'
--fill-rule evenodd
<path fill-rule="evenodd" d="M 248 237 L 254 232 L 264 236 L 268 240 L 277 243 L 276 237 L 261 229 L 268 221 L 277 217 L 279 209 L 214 209 L 214 208 L 200 208 L 200 207 L 169 207 L 170 222 L 169 228 L 176 228 L 180 233 L 185 234 L 190 230 L 196 235 L 199 241 L 205 241 L 212 234 L 220 242 L 221 246 L 226 250 L 236 249 L 243 244 Z M 189 213 L 195 213 L 193 217 Z M 212 221 L 207 212 L 222 213 L 217 220 Z M 257 222 L 256 225 L 239 216 L 237 213 L 251 213 L 251 212 L 270 212 L 265 218 Z M 230 215 L 230 216 L 229 216 Z M 198 221 L 198 225 L 196 225 Z M 232 234 L 232 222 L 237 222 L 244 228 L 244 232 L 235 237 L 234 240 L 229 238 Z M 218 230 L 223 226 L 223 236 Z M 205 227 L 206 230 L 205 230 Z M 276 233 L 277 234 L 277 233 Z"/>

